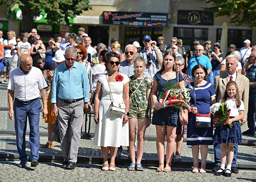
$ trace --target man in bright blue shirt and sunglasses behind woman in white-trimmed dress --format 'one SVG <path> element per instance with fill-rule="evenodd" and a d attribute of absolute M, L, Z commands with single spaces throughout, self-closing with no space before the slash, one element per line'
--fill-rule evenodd
<path fill-rule="evenodd" d="M 198 64 L 202 64 L 207 69 L 208 75 L 212 71 L 211 61 L 206 55 L 203 55 L 202 45 L 197 45 L 195 47 L 195 55 L 193 55 L 188 62 L 186 74 L 190 75 L 191 78 L 194 78 L 192 76 L 191 71 L 194 68 L 194 66 Z"/>

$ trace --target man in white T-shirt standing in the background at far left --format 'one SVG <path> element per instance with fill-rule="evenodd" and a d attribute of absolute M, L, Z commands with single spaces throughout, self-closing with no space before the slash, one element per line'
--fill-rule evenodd
<path fill-rule="evenodd" d="M 13 55 L 11 55 L 11 51 L 12 51 L 11 48 L 17 44 L 16 39 L 13 37 L 12 30 L 7 32 L 7 36 L 8 36 L 8 39 L 4 40 L 4 57 L 7 59 L 8 65 L 4 66 L 4 82 L 7 82 L 6 76 L 12 62 Z"/>

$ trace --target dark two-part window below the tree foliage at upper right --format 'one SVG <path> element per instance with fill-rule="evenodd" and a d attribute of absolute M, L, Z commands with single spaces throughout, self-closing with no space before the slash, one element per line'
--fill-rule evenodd
<path fill-rule="evenodd" d="M 217 29 L 217 42 L 221 42 L 221 32 L 222 29 Z M 245 39 L 252 40 L 252 30 L 228 30 L 228 46 L 234 44 L 236 47 L 243 47 Z"/>

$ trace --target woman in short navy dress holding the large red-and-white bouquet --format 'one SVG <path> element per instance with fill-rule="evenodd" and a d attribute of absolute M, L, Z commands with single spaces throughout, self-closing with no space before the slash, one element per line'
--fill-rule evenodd
<path fill-rule="evenodd" d="M 177 108 L 166 107 L 159 102 L 161 92 L 166 92 L 168 85 L 177 84 L 179 76 L 179 86 L 185 88 L 184 79 L 181 73 L 173 71 L 175 54 L 167 52 L 163 56 L 162 68 L 154 75 L 154 85 L 152 88 L 152 101 L 154 102 L 155 111 L 153 113 L 152 124 L 156 126 L 156 148 L 159 159 L 158 172 L 170 172 L 173 152 L 175 148 L 175 134 L 178 120 Z M 164 140 L 167 138 L 166 146 L 166 166 L 164 167 Z"/>

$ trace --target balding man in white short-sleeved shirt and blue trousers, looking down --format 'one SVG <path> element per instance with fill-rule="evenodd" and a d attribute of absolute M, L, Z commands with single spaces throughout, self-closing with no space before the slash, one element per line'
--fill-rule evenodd
<path fill-rule="evenodd" d="M 33 59 L 30 55 L 24 54 L 20 57 L 19 68 L 10 73 L 8 84 L 9 118 L 14 119 L 16 133 L 16 144 L 21 162 L 18 167 L 24 168 L 27 165 L 28 155 L 26 154 L 26 122 L 30 125 L 30 149 L 31 167 L 38 165 L 40 148 L 40 93 L 43 101 L 42 116 L 46 117 L 47 95 L 44 88 L 47 84 L 39 68 L 32 67 Z M 15 100 L 14 100 L 15 98 Z M 14 100 L 14 103 L 13 103 Z"/>

